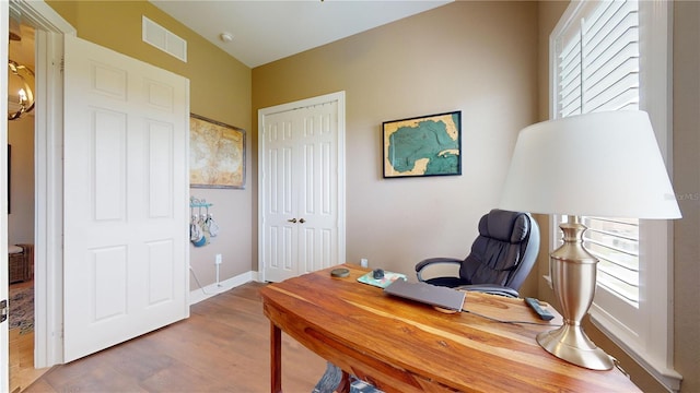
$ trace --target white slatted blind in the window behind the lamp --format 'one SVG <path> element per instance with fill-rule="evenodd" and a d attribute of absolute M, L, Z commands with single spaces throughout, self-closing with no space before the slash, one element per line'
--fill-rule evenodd
<path fill-rule="evenodd" d="M 605 1 L 586 11 L 558 45 L 557 118 L 639 109 L 638 2 Z M 584 245 L 600 261 L 598 285 L 638 307 L 639 221 L 582 218 Z"/>

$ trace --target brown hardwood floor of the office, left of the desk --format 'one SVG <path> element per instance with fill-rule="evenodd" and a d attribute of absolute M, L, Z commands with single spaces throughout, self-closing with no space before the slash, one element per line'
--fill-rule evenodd
<path fill-rule="evenodd" d="M 217 295 L 190 318 L 56 366 L 24 392 L 269 392 L 269 321 L 259 283 Z M 326 361 L 283 337 L 285 392 L 311 392 Z"/>

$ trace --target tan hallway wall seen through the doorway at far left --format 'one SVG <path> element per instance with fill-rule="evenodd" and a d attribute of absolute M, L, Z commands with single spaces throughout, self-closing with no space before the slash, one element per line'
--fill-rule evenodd
<path fill-rule="evenodd" d="M 8 121 L 10 214 L 8 243 L 34 243 L 34 116 Z"/>

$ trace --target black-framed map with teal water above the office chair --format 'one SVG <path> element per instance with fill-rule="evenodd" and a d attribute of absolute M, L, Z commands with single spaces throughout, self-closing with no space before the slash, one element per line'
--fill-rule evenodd
<path fill-rule="evenodd" d="M 462 175 L 462 111 L 382 123 L 384 177 Z"/>

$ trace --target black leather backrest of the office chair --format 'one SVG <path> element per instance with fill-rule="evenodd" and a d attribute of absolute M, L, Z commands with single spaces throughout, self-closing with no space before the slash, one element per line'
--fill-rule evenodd
<path fill-rule="evenodd" d="M 539 252 L 539 226 L 528 213 L 494 209 L 479 221 L 479 236 L 459 267 L 471 284 L 518 290 Z"/>

